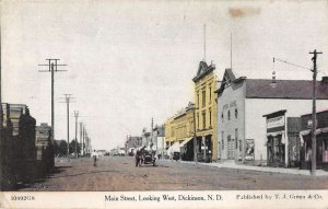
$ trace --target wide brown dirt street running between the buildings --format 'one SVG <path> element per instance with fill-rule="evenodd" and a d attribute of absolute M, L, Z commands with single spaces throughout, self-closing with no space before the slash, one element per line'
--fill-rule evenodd
<path fill-rule="evenodd" d="M 22 191 L 130 191 L 130 190 L 230 190 L 327 189 L 327 176 L 265 173 L 159 161 L 156 166 L 134 166 L 132 156 L 57 160 L 47 178 L 24 185 Z"/>

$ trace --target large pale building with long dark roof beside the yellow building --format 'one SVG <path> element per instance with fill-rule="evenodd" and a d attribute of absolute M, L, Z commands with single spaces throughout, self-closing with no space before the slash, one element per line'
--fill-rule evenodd
<path fill-rule="evenodd" d="M 327 80 L 323 78 L 316 81 L 317 109 L 328 107 Z M 271 84 L 272 80 L 236 78 L 231 69 L 225 70 L 221 86 L 215 91 L 218 152 L 221 160 L 266 164 L 270 150 L 268 144 L 272 144 L 270 137 L 276 136 L 279 139 L 276 143 L 288 151 L 288 147 L 283 146 L 288 136 L 280 137 L 280 133 L 273 135 L 271 130 L 267 132 L 270 127 L 263 116 L 281 109 L 284 109 L 283 118 L 300 117 L 311 112 L 313 81 L 277 80 L 274 85 Z"/>

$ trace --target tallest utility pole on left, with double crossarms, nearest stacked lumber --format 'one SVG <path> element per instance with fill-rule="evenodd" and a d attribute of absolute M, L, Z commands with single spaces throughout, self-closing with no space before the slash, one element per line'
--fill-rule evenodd
<path fill-rule="evenodd" d="M 39 70 L 39 72 L 51 72 L 51 143 L 54 144 L 55 140 L 55 104 L 54 104 L 54 95 L 55 95 L 55 88 L 54 88 L 54 82 L 55 82 L 55 72 L 59 71 L 67 71 L 67 70 L 58 70 L 58 66 L 67 66 L 67 65 L 59 65 L 57 63 L 60 59 L 46 59 L 48 63 L 40 63 L 38 66 L 48 66 L 49 70 Z"/>

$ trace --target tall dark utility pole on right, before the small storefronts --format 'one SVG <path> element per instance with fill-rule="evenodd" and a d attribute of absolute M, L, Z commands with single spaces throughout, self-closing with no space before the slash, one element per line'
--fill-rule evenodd
<path fill-rule="evenodd" d="M 316 114 L 316 80 L 317 80 L 317 55 L 323 53 L 317 53 L 315 49 L 313 53 L 313 112 L 312 112 L 312 166 L 311 166 L 311 174 L 313 176 L 316 175 L 316 169 L 317 169 L 317 144 L 316 144 L 316 120 L 317 120 L 317 114 Z"/>

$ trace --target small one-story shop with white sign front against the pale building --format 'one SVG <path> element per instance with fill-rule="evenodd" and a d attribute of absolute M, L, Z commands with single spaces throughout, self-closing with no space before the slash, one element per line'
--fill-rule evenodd
<path fill-rule="evenodd" d="M 267 118 L 267 165 L 298 166 L 301 118 L 286 117 L 286 111 L 265 115 Z"/>

